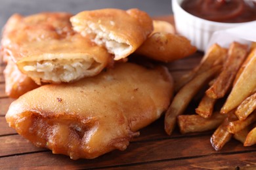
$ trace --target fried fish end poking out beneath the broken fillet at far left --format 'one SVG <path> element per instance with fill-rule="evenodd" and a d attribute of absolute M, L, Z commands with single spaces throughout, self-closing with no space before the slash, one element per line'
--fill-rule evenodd
<path fill-rule="evenodd" d="M 5 75 L 5 93 L 12 98 L 18 98 L 39 86 L 28 76 L 20 72 L 16 64 L 9 59 L 3 71 Z"/>

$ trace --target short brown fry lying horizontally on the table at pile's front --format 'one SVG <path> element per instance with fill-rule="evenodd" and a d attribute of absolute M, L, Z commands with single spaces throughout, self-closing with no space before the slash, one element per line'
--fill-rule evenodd
<path fill-rule="evenodd" d="M 215 112 L 211 118 L 202 118 L 198 114 L 178 116 L 181 133 L 208 131 L 217 128 L 226 118 L 226 114 Z"/>

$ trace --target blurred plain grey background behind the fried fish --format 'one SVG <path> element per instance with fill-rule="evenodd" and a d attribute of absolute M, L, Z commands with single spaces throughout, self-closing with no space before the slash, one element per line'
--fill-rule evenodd
<path fill-rule="evenodd" d="M 138 8 L 161 16 L 171 14 L 171 0 L 0 0 L 0 27 L 14 13 L 22 15 L 45 11 L 64 11 L 73 14 L 83 10 Z"/>

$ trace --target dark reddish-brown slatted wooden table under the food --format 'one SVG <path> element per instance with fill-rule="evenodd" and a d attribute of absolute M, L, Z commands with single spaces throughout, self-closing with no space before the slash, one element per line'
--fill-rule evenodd
<path fill-rule="evenodd" d="M 173 21 L 173 18 L 161 18 Z M 177 79 L 202 58 L 196 53 L 186 59 L 167 64 Z M 14 99 L 5 95 L 5 80 L 0 66 L 0 169 L 256 169 L 256 146 L 244 147 L 232 139 L 216 152 L 210 143 L 213 131 L 181 135 L 178 129 L 165 134 L 163 118 L 140 130 L 127 150 L 115 150 L 94 160 L 70 160 L 68 156 L 52 154 L 37 148 L 8 127 L 5 113 Z"/>

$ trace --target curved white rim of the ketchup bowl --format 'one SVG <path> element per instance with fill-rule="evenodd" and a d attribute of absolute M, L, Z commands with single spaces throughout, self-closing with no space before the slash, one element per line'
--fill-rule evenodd
<path fill-rule="evenodd" d="M 190 18 L 195 18 L 196 20 L 205 22 L 206 24 L 211 24 L 211 25 L 220 25 L 220 26 L 238 26 L 238 25 L 242 25 L 242 24 L 249 24 L 251 22 L 255 22 L 255 21 L 250 21 L 250 22 L 238 22 L 238 23 L 229 23 L 229 22 L 214 22 L 214 21 L 210 21 L 210 20 L 205 20 L 203 18 L 200 18 L 198 16 L 194 16 L 192 14 L 190 14 L 189 12 L 186 12 L 186 10 L 182 9 L 181 7 L 181 3 L 184 0 L 171 0 L 172 1 L 172 9 L 173 9 L 173 14 L 175 14 L 175 11 L 177 9 L 175 9 L 175 7 L 178 8 L 178 10 L 186 13 L 186 15 L 190 16 Z"/>

